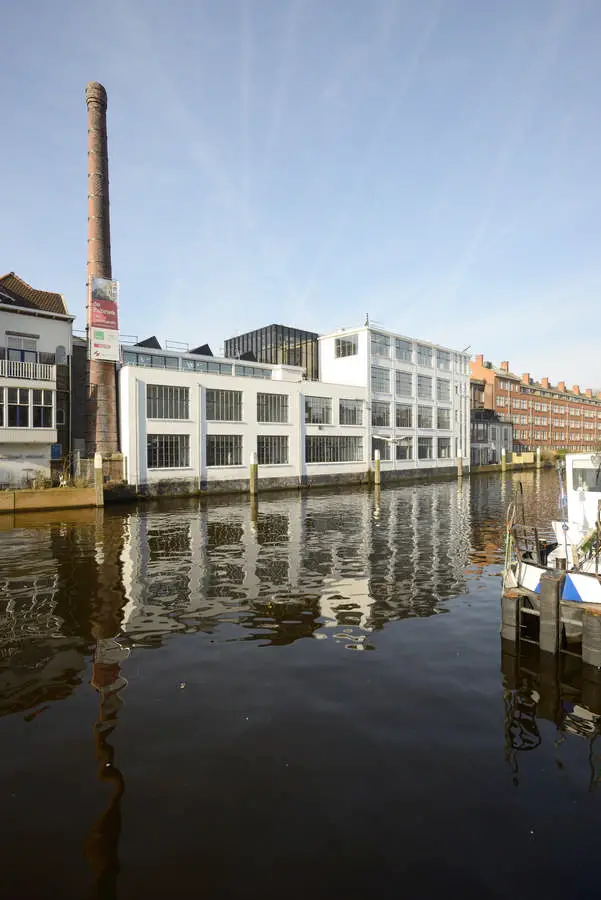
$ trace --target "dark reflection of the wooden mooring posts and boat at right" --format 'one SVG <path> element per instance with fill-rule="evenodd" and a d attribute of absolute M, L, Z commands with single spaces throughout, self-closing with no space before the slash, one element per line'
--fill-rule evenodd
<path fill-rule="evenodd" d="M 505 708 L 505 759 L 515 785 L 522 754 L 543 744 L 541 722 L 555 726 L 553 747 L 559 765 L 570 736 L 588 743 L 589 790 L 601 782 L 601 673 L 576 656 L 543 653 L 535 645 L 501 641 Z"/>

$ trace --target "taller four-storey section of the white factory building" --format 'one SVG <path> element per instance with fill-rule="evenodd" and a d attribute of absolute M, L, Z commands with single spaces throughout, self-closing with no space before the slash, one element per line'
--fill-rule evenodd
<path fill-rule="evenodd" d="M 366 325 L 319 338 L 326 382 L 366 391 L 366 441 L 382 471 L 470 462 L 469 355 Z"/>

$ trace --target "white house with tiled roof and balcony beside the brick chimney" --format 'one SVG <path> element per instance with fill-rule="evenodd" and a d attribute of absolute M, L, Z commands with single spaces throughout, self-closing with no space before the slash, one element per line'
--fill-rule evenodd
<path fill-rule="evenodd" d="M 0 277 L 0 487 L 50 476 L 68 450 L 73 317 L 60 294 Z"/>

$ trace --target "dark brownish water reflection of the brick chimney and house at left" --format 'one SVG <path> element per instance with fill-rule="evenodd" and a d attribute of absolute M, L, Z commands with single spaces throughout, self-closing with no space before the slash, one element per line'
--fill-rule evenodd
<path fill-rule="evenodd" d="M 123 519 L 84 510 L 59 522 L 28 516 L 25 526 L 22 543 L 13 532 L 0 579 L 0 716 L 26 713 L 30 721 L 90 683 L 98 697 L 97 774 L 108 798 L 84 851 L 96 896 L 115 897 L 125 783 L 112 740 L 127 684 L 121 665 L 129 653 L 119 640 L 126 603 Z"/>

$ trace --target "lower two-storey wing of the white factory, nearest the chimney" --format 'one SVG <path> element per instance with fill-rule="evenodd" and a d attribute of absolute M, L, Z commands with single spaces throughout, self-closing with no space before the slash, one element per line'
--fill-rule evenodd
<path fill-rule="evenodd" d="M 306 381 L 295 366 L 140 345 L 124 347 L 122 358 L 121 449 L 130 484 L 243 488 L 251 453 L 264 486 L 365 477 L 364 388 Z"/>

